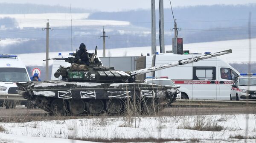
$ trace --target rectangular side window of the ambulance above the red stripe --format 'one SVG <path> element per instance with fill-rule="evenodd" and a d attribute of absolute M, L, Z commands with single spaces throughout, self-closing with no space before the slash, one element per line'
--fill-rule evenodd
<path fill-rule="evenodd" d="M 215 80 L 216 67 L 193 67 L 193 80 Z"/>

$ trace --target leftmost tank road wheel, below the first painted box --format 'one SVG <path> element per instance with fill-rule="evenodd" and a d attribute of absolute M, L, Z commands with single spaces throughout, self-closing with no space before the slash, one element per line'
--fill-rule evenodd
<path fill-rule="evenodd" d="M 64 99 L 54 99 L 51 103 L 52 115 L 66 115 L 67 103 Z"/>

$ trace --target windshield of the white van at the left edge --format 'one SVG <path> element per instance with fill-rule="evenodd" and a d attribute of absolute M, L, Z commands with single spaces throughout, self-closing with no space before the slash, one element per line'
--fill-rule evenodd
<path fill-rule="evenodd" d="M 0 82 L 27 82 L 29 77 L 25 68 L 1 67 Z"/>

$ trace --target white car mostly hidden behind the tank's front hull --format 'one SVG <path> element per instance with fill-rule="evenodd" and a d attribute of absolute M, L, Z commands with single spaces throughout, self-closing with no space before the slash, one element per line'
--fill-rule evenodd
<path fill-rule="evenodd" d="M 160 76 L 159 78 L 148 76 L 148 77 L 146 77 L 144 82 L 145 83 L 160 84 L 160 85 L 169 85 L 169 86 L 176 87 L 176 90 L 178 92 L 176 99 L 181 98 L 180 90 L 178 90 L 178 88 L 180 88 L 180 85 L 175 85 L 174 82 L 171 79 L 168 79 L 168 76 Z"/>

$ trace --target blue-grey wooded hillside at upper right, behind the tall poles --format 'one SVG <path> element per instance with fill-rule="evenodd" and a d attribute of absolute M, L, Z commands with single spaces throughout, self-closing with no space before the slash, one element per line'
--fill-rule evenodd
<path fill-rule="evenodd" d="M 164 6 L 165 30 L 174 27 L 172 10 L 170 6 Z M 250 5 L 213 5 L 213 6 L 188 6 L 173 8 L 178 28 L 223 28 L 244 26 L 248 22 L 249 12 L 252 20 L 256 20 L 256 4 Z M 95 12 L 88 19 L 95 20 L 122 20 L 129 21 L 133 25 L 151 27 L 151 11 L 134 10 L 120 12 Z M 159 10 L 156 10 L 156 23 L 159 24 Z M 184 30 L 186 30 L 184 29 Z"/>

